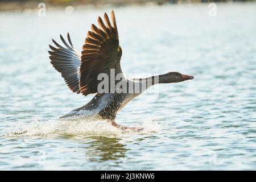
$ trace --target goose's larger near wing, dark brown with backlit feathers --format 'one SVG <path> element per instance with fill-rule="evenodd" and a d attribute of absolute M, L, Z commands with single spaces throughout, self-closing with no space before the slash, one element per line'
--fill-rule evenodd
<path fill-rule="evenodd" d="M 98 17 L 98 27 L 92 24 L 92 31 L 88 31 L 85 44 L 82 47 L 80 67 L 80 92 L 86 96 L 97 93 L 98 74 L 106 73 L 110 76 L 110 69 L 115 74 L 122 73 L 120 59 L 122 49 L 119 46 L 117 24 L 114 11 L 112 11 L 113 26 L 108 15 L 104 14 L 105 24 Z"/>

